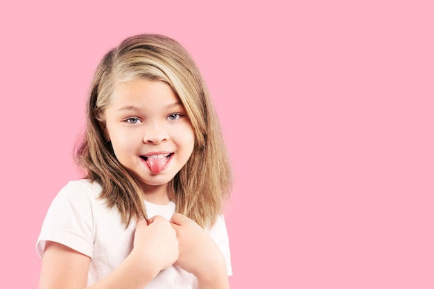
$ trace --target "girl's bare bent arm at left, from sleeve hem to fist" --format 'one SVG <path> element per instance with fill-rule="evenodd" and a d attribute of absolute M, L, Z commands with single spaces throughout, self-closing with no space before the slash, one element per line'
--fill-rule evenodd
<path fill-rule="evenodd" d="M 64 245 L 47 242 L 42 258 L 39 289 L 141 289 L 178 255 L 175 231 L 162 217 L 137 222 L 134 248 L 104 279 L 87 285 L 90 258 Z"/>

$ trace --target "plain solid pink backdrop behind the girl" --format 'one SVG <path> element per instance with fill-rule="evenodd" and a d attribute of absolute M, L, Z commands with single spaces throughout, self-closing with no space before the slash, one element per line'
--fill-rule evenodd
<path fill-rule="evenodd" d="M 205 2 L 0 4 L 2 287 L 37 287 L 97 62 L 152 32 L 220 116 L 232 288 L 434 288 L 432 1 Z"/>

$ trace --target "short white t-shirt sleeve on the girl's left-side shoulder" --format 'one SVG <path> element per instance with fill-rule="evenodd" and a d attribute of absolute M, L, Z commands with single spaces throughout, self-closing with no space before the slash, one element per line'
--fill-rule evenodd
<path fill-rule="evenodd" d="M 69 182 L 60 190 L 51 202 L 37 239 L 36 250 L 41 258 L 47 240 L 60 243 L 92 258 L 92 198 L 92 190 L 80 182 Z"/>

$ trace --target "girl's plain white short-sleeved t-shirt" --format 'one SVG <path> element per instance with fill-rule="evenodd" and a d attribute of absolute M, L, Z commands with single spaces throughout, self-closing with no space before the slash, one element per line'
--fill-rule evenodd
<path fill-rule="evenodd" d="M 53 199 L 46 213 L 37 254 L 42 258 L 46 240 L 66 245 L 91 258 L 87 285 L 110 274 L 123 262 L 132 250 L 135 222 L 125 229 L 116 207 L 108 209 L 104 200 L 98 198 L 101 185 L 87 179 L 71 181 Z M 148 218 L 163 216 L 170 220 L 175 213 L 175 203 L 166 205 L 145 202 Z M 232 275 L 229 239 L 223 216 L 219 216 L 207 232 L 220 247 L 226 260 L 228 275 Z M 159 272 L 146 289 L 196 288 L 193 274 L 173 265 Z"/>

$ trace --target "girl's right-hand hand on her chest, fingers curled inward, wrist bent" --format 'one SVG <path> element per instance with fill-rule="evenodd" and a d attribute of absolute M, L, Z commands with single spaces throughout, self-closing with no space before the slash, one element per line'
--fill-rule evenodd
<path fill-rule="evenodd" d="M 227 277 L 223 254 L 204 229 L 180 213 L 172 216 L 171 223 L 180 246 L 176 265 L 198 279 L 213 279 L 215 274 L 221 272 Z"/>

